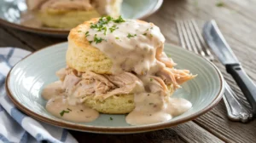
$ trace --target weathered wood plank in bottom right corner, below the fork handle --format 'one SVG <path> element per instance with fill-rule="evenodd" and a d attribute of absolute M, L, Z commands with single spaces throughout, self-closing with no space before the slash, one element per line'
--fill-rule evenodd
<path fill-rule="evenodd" d="M 198 117 L 195 123 L 226 142 L 255 142 L 256 120 L 250 123 L 230 122 L 226 114 L 221 100 L 218 106 Z"/>

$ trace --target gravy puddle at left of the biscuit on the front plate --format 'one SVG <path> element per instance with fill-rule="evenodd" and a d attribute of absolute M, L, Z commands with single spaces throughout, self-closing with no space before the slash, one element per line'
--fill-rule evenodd
<path fill-rule="evenodd" d="M 64 89 L 61 89 L 61 81 L 48 84 L 42 91 L 44 100 L 48 100 L 46 104 L 47 112 L 55 117 L 60 117 L 68 121 L 87 123 L 94 121 L 99 117 L 99 112 L 90 109 L 83 104 L 68 104 L 67 95 Z"/>

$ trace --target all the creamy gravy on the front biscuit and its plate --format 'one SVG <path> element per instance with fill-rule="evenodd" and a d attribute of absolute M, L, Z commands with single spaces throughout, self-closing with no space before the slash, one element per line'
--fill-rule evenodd
<path fill-rule="evenodd" d="M 93 25 L 96 26 L 90 26 Z M 192 104 L 188 100 L 170 98 L 164 81 L 155 76 L 166 68 L 165 63 L 156 59 L 161 56 L 165 42 L 159 27 L 138 20 L 125 20 L 119 23 L 109 20 L 103 26 L 105 30 L 89 28 L 85 33 L 87 40 L 113 61 L 113 75 L 133 72 L 144 87 L 143 91 L 133 91 L 136 107 L 127 115 L 127 123 L 140 125 L 166 122 L 191 108 Z M 166 54 L 164 55 L 166 57 Z M 165 62 L 168 63 L 167 59 Z M 154 79 L 151 79 L 152 77 Z M 62 83 L 62 89 L 65 83 L 71 82 Z M 95 110 L 79 103 L 68 104 L 66 96 L 57 96 L 59 89 L 59 83 L 52 83 L 43 91 L 44 99 L 51 99 L 46 106 L 48 112 L 73 122 L 90 122 L 99 116 Z M 72 111 L 67 111 L 67 108 Z M 61 116 L 60 112 L 63 110 L 67 113 Z M 80 112 L 81 110 L 84 112 Z"/>

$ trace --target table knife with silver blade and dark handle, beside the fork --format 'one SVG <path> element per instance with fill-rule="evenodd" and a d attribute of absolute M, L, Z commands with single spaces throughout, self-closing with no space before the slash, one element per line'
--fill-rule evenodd
<path fill-rule="evenodd" d="M 242 93 L 252 106 L 253 114 L 256 115 L 256 86 L 243 70 L 236 55 L 219 31 L 215 20 L 210 20 L 204 25 L 203 36 L 209 47 L 217 55 L 218 60 L 226 67 L 226 71 L 235 79 Z"/>

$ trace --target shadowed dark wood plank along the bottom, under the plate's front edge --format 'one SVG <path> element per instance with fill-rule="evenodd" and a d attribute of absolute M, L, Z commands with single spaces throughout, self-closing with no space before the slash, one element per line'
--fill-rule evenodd
<path fill-rule="evenodd" d="M 79 142 L 85 139 L 87 142 L 142 142 L 142 143 L 182 143 L 182 142 L 207 142 L 220 143 L 214 135 L 202 129 L 193 122 L 183 123 L 170 129 L 162 129 L 141 134 L 90 134 L 78 131 L 71 131 Z"/>

